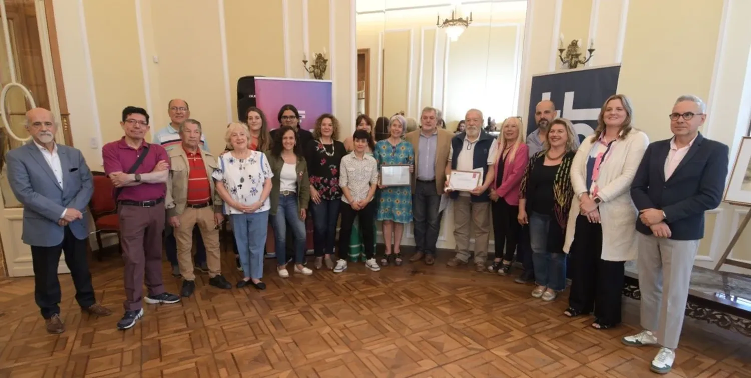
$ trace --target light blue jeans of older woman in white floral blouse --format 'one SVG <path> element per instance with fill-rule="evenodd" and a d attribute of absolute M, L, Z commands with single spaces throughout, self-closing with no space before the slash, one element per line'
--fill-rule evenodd
<path fill-rule="evenodd" d="M 231 214 L 230 221 L 245 277 L 260 280 L 264 276 L 264 246 L 269 226 L 269 211 Z"/>

